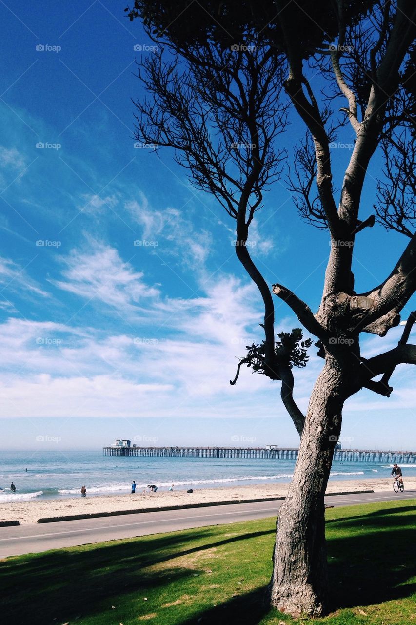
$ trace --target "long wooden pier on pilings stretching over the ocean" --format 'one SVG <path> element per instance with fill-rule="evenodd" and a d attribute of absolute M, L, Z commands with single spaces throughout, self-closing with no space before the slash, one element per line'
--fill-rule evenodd
<path fill-rule="evenodd" d="M 298 449 L 295 447 L 282 449 L 267 449 L 267 447 L 104 447 L 104 456 L 296 460 L 297 453 Z M 416 464 L 416 452 L 337 449 L 334 452 L 334 461 Z"/>

